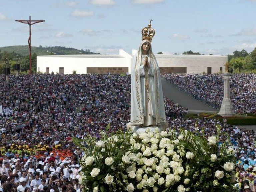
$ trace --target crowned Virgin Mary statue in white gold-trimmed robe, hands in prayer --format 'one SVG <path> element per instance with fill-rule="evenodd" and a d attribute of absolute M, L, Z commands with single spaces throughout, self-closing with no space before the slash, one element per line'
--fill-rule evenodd
<path fill-rule="evenodd" d="M 160 70 L 152 53 L 155 30 L 151 21 L 141 33 L 142 41 L 131 68 L 131 121 L 127 124 L 136 133 L 144 133 L 146 128 L 167 128 Z"/>

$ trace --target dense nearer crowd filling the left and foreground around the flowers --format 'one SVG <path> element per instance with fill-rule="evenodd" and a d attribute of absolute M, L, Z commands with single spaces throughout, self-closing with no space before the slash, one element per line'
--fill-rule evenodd
<path fill-rule="evenodd" d="M 8 82 L 0 76 L 0 99 L 4 112 L 0 115 L 0 191 L 79 192 L 83 153 L 72 137 L 98 137 L 108 123 L 111 131 L 126 129 L 130 76 L 20 75 L 10 76 Z M 236 149 L 238 188 L 243 191 L 247 183 L 254 184 L 254 131 L 217 120 L 184 119 L 185 108 L 164 101 L 169 129 L 204 129 L 212 136 L 216 125 L 221 126 Z M 221 137 L 221 142 L 225 139 Z"/>

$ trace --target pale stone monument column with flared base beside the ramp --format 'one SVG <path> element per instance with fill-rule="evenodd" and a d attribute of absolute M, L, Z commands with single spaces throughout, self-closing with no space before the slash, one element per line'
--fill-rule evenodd
<path fill-rule="evenodd" d="M 224 116 L 231 117 L 235 114 L 235 111 L 230 100 L 230 84 L 229 84 L 230 74 L 224 73 L 223 79 L 224 79 L 224 97 L 220 107 L 220 112 L 218 114 L 223 117 Z"/>

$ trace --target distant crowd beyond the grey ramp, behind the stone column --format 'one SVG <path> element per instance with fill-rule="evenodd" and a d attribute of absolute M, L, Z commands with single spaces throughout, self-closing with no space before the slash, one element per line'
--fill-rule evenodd
<path fill-rule="evenodd" d="M 219 109 L 223 99 L 220 74 L 164 74 L 167 81 L 208 105 Z M 232 74 L 230 97 L 237 113 L 256 113 L 256 75 Z"/>

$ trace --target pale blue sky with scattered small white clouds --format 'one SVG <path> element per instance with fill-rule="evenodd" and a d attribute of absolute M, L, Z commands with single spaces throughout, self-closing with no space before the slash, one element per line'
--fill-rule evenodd
<path fill-rule="evenodd" d="M 66 46 L 102 54 L 138 49 L 152 18 L 154 53 L 227 55 L 256 47 L 256 0 L 0 0 L 0 47 Z"/>

